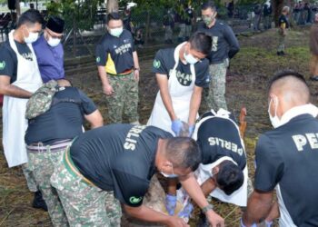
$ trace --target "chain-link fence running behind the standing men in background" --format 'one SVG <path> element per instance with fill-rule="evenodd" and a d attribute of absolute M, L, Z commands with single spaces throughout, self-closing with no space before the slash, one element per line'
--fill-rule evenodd
<path fill-rule="evenodd" d="M 164 7 L 158 7 L 152 11 L 140 8 L 133 8 L 130 16 L 125 15 L 123 10 L 120 11 L 124 20 L 129 19 L 131 21 L 132 33 L 135 39 L 143 41 L 138 44 L 138 48 L 164 44 L 164 18 L 168 14 L 168 10 L 164 9 Z M 43 11 L 43 14 L 47 16 L 46 11 Z M 185 37 L 181 38 L 180 31 L 182 28 L 180 26 L 181 23 L 177 19 L 177 14 L 174 11 L 170 11 L 169 14 L 173 15 L 174 18 L 172 42 L 177 44 Z M 231 13 L 229 13 L 227 8 L 220 7 L 218 15 L 220 19 L 233 27 L 234 33 L 246 32 L 252 28 L 253 5 L 237 5 Z M 84 20 L 87 20 L 87 22 L 93 21 L 93 24 L 85 29 L 80 28 L 80 23 L 83 23 L 83 20 L 79 22 L 78 19 L 75 19 L 78 18 L 78 15 L 74 19 L 71 17 L 71 20 L 68 19 L 65 21 L 65 36 L 62 41 L 65 47 L 65 58 L 94 55 L 95 44 L 98 43 L 98 40 L 105 33 L 106 9 L 100 8 L 94 14 L 88 12 L 85 16 L 87 18 L 84 18 Z M 200 22 L 200 10 L 194 11 L 191 32 L 196 30 Z M 15 23 L 13 23 L 10 13 L 0 15 L 0 43 L 7 39 L 7 34 L 14 28 Z"/>

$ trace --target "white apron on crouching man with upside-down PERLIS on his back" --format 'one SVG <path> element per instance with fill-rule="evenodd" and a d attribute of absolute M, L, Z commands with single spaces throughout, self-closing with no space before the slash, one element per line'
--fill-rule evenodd
<path fill-rule="evenodd" d="M 232 123 L 234 123 L 234 121 L 232 121 L 232 119 L 229 117 L 230 113 L 225 111 L 224 109 L 220 109 L 217 113 L 215 113 L 213 110 L 211 110 L 211 111 L 214 113 L 215 116 L 206 117 L 206 118 L 204 118 L 204 121 L 206 121 L 207 119 L 210 119 L 210 118 L 214 118 L 214 117 L 222 117 L 222 118 L 225 118 L 225 119 L 231 121 Z M 194 140 L 197 139 L 197 131 L 200 127 L 200 124 L 203 123 L 204 121 L 199 122 L 195 125 L 194 136 L 193 136 Z M 237 129 L 237 133 L 240 133 L 240 130 L 239 130 L 239 127 L 237 126 L 237 124 L 234 123 L 234 125 Z M 241 138 L 241 143 L 243 146 L 243 150 L 245 152 L 244 143 L 243 143 L 242 138 Z M 222 157 L 211 164 L 200 164 L 199 168 L 195 171 L 195 175 L 197 176 L 197 182 L 201 185 L 208 178 L 212 177 L 213 176 L 212 169 L 214 168 L 214 166 L 218 165 L 219 163 L 222 163 L 225 160 L 229 160 L 229 161 L 232 161 L 233 163 L 235 163 L 231 157 Z M 235 163 L 235 164 L 237 164 L 237 163 Z M 236 190 L 232 194 L 227 195 L 221 189 L 215 188 L 214 191 L 210 193 L 210 195 L 214 198 L 217 198 L 217 199 L 223 201 L 223 202 L 233 203 L 233 204 L 238 205 L 238 206 L 246 206 L 246 204 L 247 204 L 247 179 L 248 179 L 247 163 L 246 163 L 245 168 L 243 169 L 243 176 L 244 176 L 243 185 L 241 186 L 241 188 L 239 188 L 238 190 Z"/>

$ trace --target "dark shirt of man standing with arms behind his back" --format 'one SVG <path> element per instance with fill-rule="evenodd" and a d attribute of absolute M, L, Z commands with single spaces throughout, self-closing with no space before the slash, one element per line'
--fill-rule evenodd
<path fill-rule="evenodd" d="M 199 24 L 198 31 L 212 36 L 211 53 L 208 57 L 210 64 L 223 63 L 224 59 L 234 57 L 240 50 L 232 28 L 219 20 L 216 20 L 211 28 L 205 24 Z"/>

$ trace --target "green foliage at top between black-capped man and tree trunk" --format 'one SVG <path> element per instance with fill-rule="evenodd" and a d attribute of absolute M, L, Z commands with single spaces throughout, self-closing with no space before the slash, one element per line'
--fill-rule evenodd
<path fill-rule="evenodd" d="M 81 30 L 94 26 L 94 16 L 100 0 L 61 0 L 46 5 L 48 15 L 60 15 L 65 19 L 66 27 L 76 25 Z"/>

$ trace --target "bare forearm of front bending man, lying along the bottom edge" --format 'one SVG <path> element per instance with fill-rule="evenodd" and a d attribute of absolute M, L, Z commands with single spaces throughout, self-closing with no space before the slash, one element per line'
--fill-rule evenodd
<path fill-rule="evenodd" d="M 167 226 L 184 227 L 189 226 L 183 219 L 177 216 L 168 216 L 161 212 L 155 212 L 153 209 L 144 205 L 139 207 L 131 207 L 124 204 L 124 210 L 134 218 L 146 222 L 160 222 Z"/>

